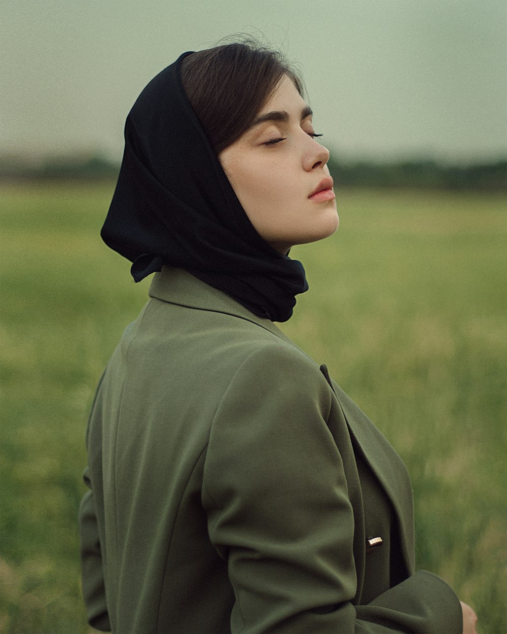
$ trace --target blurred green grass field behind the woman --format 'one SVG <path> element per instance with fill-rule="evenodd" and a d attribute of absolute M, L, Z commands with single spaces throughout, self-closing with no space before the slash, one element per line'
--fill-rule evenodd
<path fill-rule="evenodd" d="M 99 375 L 149 280 L 99 240 L 112 184 L 1 195 L 0 631 L 89 631 L 76 514 Z M 311 290 L 283 330 L 413 477 L 418 567 L 506 623 L 506 230 L 493 195 L 338 189 L 341 226 L 295 247 Z"/>

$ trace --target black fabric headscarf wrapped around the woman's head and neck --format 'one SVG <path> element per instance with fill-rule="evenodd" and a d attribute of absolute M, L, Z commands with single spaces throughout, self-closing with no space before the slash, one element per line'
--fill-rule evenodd
<path fill-rule="evenodd" d="M 273 321 L 308 289 L 297 260 L 263 240 L 186 97 L 184 53 L 146 86 L 125 123 L 125 152 L 101 231 L 141 281 L 170 264 Z M 276 210 L 273 210 L 276 212 Z"/>

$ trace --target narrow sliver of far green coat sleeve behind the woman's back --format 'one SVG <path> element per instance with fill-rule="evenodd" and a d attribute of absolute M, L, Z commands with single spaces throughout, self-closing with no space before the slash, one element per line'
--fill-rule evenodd
<path fill-rule="evenodd" d="M 82 593 L 88 623 L 96 630 L 110 631 L 98 522 L 87 471 L 84 472 L 84 481 L 90 490 L 82 498 L 79 507 Z"/>

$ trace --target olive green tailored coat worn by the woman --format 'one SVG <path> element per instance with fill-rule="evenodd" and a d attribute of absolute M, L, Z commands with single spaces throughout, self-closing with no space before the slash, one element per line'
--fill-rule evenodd
<path fill-rule="evenodd" d="M 89 622 L 461 634 L 451 588 L 414 573 L 406 469 L 326 367 L 186 271 L 165 267 L 150 295 L 87 430 Z"/>

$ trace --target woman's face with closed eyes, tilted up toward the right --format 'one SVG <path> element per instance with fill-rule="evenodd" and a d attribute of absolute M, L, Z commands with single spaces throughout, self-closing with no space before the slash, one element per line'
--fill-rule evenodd
<path fill-rule="evenodd" d="M 219 155 L 255 230 L 284 254 L 338 228 L 328 159 L 314 139 L 311 110 L 286 75 L 254 125 Z"/>

